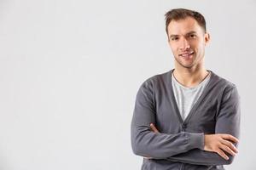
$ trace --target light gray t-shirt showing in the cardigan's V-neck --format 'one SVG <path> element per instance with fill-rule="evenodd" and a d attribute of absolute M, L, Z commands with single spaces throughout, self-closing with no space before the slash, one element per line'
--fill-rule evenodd
<path fill-rule="evenodd" d="M 205 89 L 207 83 L 210 80 L 210 77 L 211 72 L 209 71 L 207 77 L 197 86 L 193 88 L 187 88 L 184 87 L 181 83 L 177 82 L 176 78 L 173 76 L 172 73 L 173 93 L 177 102 L 179 113 L 182 116 L 183 121 L 189 115 L 189 111 L 191 110 L 197 99 L 199 99 L 199 97 L 201 96 L 203 90 Z"/>

